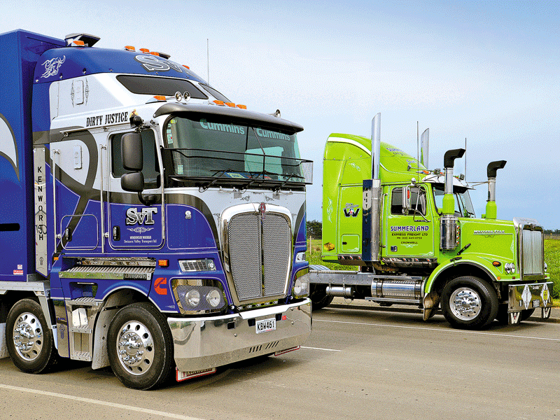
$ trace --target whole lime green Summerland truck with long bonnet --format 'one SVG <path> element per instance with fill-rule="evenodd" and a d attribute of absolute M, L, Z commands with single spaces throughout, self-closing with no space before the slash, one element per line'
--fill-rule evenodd
<path fill-rule="evenodd" d="M 419 161 L 381 143 L 380 117 L 372 120 L 372 139 L 328 137 L 322 259 L 358 271 L 312 266 L 313 309 L 339 296 L 418 305 L 426 321 L 441 305 L 447 321 L 465 329 L 494 319 L 519 323 L 536 308 L 548 318 L 552 282 L 542 227 L 496 219 L 496 172 L 505 161 L 488 165 L 486 214 L 477 218 L 472 188 L 453 174 L 465 149 L 447 151 L 444 171 L 430 171 L 427 130 Z"/>

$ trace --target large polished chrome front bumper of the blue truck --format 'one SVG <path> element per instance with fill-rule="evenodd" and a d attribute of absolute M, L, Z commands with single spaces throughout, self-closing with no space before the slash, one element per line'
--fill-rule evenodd
<path fill-rule="evenodd" d="M 253 320 L 273 317 L 276 330 L 257 334 Z M 167 318 L 167 323 L 177 369 L 203 370 L 301 345 L 311 334 L 311 300 L 240 314 Z"/>

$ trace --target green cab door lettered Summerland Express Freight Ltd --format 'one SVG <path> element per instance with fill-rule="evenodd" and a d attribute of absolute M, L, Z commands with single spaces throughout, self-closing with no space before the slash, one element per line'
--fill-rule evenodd
<path fill-rule="evenodd" d="M 433 209 L 428 205 L 428 189 L 419 184 L 410 188 L 412 211 L 402 205 L 402 189 L 392 186 L 384 204 L 384 256 L 396 258 L 433 258 Z"/>

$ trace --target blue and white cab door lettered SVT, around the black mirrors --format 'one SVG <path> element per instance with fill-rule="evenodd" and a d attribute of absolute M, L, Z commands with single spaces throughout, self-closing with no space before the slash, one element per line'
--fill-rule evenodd
<path fill-rule="evenodd" d="M 120 177 L 127 171 L 123 168 L 120 140 L 130 131 L 113 132 L 109 135 L 109 244 L 119 249 L 160 248 L 164 240 L 162 214 L 161 163 L 157 148 L 156 133 L 143 130 L 142 149 L 144 165 L 144 191 L 142 195 L 153 195 L 155 202 L 146 206 L 137 193 L 130 193 L 120 186 Z"/>

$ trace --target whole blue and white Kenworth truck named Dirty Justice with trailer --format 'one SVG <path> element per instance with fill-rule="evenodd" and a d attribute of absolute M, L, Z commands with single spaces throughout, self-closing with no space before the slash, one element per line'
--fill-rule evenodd
<path fill-rule="evenodd" d="M 149 389 L 298 349 L 303 127 L 98 40 L 0 35 L 0 358 Z"/>

